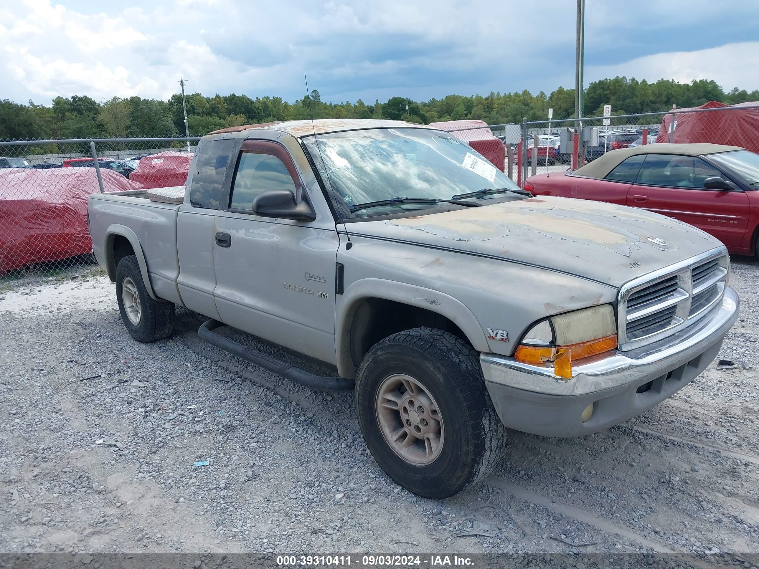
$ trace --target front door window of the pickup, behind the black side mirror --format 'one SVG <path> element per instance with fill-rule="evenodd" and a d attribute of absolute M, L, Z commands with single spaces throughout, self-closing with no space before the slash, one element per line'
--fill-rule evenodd
<path fill-rule="evenodd" d="M 269 190 L 295 193 L 295 183 L 287 167 L 282 160 L 271 154 L 243 150 L 229 196 L 229 209 L 250 212 L 256 197 Z"/>

